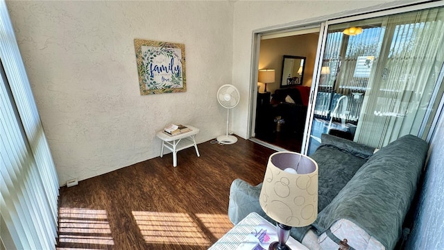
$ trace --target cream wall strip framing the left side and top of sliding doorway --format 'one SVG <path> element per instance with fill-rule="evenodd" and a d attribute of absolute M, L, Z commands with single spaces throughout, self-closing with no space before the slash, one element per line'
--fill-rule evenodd
<path fill-rule="evenodd" d="M 257 88 L 250 77 L 253 31 L 264 28 L 296 26 L 328 18 L 355 15 L 420 1 L 237 1 L 234 3 L 233 84 L 241 92 L 239 106 L 234 108 L 232 130 L 243 138 L 248 135 L 251 88 Z"/>

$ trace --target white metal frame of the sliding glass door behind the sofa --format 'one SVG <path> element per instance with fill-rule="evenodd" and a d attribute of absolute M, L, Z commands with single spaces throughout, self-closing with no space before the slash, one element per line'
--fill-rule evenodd
<path fill-rule="evenodd" d="M 316 64 L 315 64 L 316 70 L 314 71 L 314 76 L 313 76 L 314 82 L 311 84 L 310 101 L 309 101 L 309 106 L 307 109 L 307 118 L 306 118 L 306 122 L 305 122 L 305 130 L 304 130 L 305 132 L 304 132 L 304 138 L 302 141 L 302 149 L 301 149 L 302 154 L 307 155 L 308 150 L 309 150 L 309 142 L 310 142 L 310 138 L 311 138 L 311 130 L 312 130 L 313 120 L 314 120 L 314 108 L 316 106 L 316 97 L 318 95 L 318 86 L 319 86 L 319 81 L 320 81 L 320 76 L 321 76 L 320 63 L 323 61 L 323 55 L 324 55 L 324 51 L 325 51 L 325 45 L 326 45 L 326 39 L 327 39 L 327 33 L 328 33 L 329 26 L 334 25 L 334 24 L 341 24 L 341 23 L 345 23 L 345 22 L 354 22 L 354 21 L 358 21 L 361 19 L 370 19 L 370 18 L 374 18 L 374 17 L 395 15 L 395 14 L 400 14 L 403 12 L 419 11 L 419 10 L 424 10 L 427 8 L 437 8 L 437 7 L 443 7 L 443 6 L 444 6 L 444 1 L 434 1 L 434 2 L 430 2 L 430 3 L 418 3 L 418 4 L 411 5 L 411 6 L 393 8 L 390 10 L 380 10 L 380 11 L 376 11 L 376 12 L 353 15 L 350 17 L 341 17 L 341 18 L 330 19 L 325 22 L 321 22 L 321 31 L 319 34 L 318 50 L 316 52 L 316 54 L 317 54 Z M 439 101 L 440 104 L 437 108 L 434 120 L 436 120 L 436 118 L 440 115 L 441 110 L 443 109 L 443 105 L 444 105 L 443 100 L 444 100 L 444 97 L 441 99 L 441 101 Z M 421 127 L 424 127 L 425 123 L 427 123 L 427 119 L 424 119 Z M 436 125 L 436 124 L 434 124 L 434 125 Z M 429 142 L 430 135 L 432 135 L 434 133 L 434 129 L 435 129 L 435 127 L 432 126 L 430 128 L 430 130 L 428 131 L 429 136 L 427 136 L 427 142 Z M 420 131 L 420 133 L 422 131 L 423 131 L 423 129 Z"/>

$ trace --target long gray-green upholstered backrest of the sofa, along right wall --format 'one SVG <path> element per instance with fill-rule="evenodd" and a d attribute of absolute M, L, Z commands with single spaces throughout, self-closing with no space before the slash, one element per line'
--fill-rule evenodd
<path fill-rule="evenodd" d="M 405 135 L 377 151 L 318 214 L 313 224 L 318 233 L 339 219 L 348 219 L 386 249 L 393 249 L 416 192 L 427 149 L 424 140 Z"/>

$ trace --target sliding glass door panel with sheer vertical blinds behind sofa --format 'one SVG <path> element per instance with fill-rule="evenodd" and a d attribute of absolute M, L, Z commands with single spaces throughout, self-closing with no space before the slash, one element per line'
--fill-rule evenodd
<path fill-rule="evenodd" d="M 444 8 L 327 26 L 305 153 L 322 133 L 384 147 L 427 137 L 442 97 Z"/>

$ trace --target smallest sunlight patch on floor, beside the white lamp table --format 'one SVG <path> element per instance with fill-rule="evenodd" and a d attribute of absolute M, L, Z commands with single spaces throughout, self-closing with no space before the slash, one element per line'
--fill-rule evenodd
<path fill-rule="evenodd" d="M 216 239 L 221 238 L 233 227 L 228 215 L 196 214 L 196 216 Z"/>

